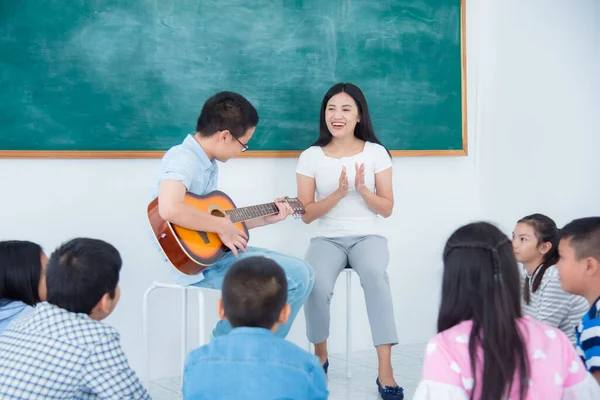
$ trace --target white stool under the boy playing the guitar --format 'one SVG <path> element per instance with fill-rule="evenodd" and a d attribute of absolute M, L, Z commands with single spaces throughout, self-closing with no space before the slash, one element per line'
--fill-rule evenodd
<path fill-rule="evenodd" d="M 148 298 L 150 293 L 155 289 L 175 289 L 181 291 L 181 378 L 183 379 L 183 368 L 185 365 L 185 357 L 187 355 L 187 291 L 197 290 L 198 291 L 198 310 L 199 310 L 199 332 L 198 332 L 198 345 L 202 346 L 204 342 L 204 290 L 210 290 L 207 288 L 201 288 L 197 286 L 181 286 L 173 283 L 153 282 L 152 285 L 144 292 L 144 310 L 143 310 L 143 337 L 144 337 L 144 349 L 146 352 L 146 379 L 148 383 L 151 381 L 151 351 L 150 351 L 150 338 L 148 332 Z"/>

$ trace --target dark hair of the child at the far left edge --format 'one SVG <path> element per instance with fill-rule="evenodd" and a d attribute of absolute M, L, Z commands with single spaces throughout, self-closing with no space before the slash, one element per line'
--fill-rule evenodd
<path fill-rule="evenodd" d="M 0 302 L 34 306 L 41 301 L 42 252 L 39 244 L 28 241 L 0 242 Z"/>

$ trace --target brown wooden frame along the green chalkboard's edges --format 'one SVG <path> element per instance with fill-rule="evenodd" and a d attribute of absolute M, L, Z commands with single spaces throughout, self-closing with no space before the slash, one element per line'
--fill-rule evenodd
<path fill-rule="evenodd" d="M 466 57 L 466 0 L 460 0 L 460 70 L 462 149 L 460 150 L 390 150 L 394 157 L 460 157 L 468 155 L 467 135 L 467 57 Z M 301 150 L 250 150 L 239 158 L 296 158 Z M 51 159 L 128 159 L 161 158 L 164 151 L 105 151 L 105 150 L 0 150 L 0 158 Z"/>

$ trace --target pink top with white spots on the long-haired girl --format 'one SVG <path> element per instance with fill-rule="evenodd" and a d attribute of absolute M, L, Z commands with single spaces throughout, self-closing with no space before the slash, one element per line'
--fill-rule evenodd
<path fill-rule="evenodd" d="M 530 379 L 527 399 L 600 399 L 600 387 L 586 371 L 569 339 L 560 330 L 530 317 L 518 321 L 529 355 Z M 473 323 L 465 321 L 435 336 L 427 345 L 423 380 L 415 399 L 469 398 L 473 372 L 469 361 L 469 335 Z M 480 351 L 480 357 L 482 352 Z M 475 372 L 479 399 L 482 363 Z M 517 377 L 516 377 L 517 378 Z M 573 392 L 574 391 L 574 392 Z M 571 397 L 575 396 L 575 397 Z M 518 378 L 509 399 L 519 398 Z"/>

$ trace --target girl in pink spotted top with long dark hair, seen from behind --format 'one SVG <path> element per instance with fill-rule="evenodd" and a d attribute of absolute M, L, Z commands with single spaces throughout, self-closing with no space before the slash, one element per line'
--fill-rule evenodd
<path fill-rule="evenodd" d="M 567 336 L 523 316 L 510 240 L 478 222 L 444 249 L 438 334 L 413 400 L 600 399 Z"/>

